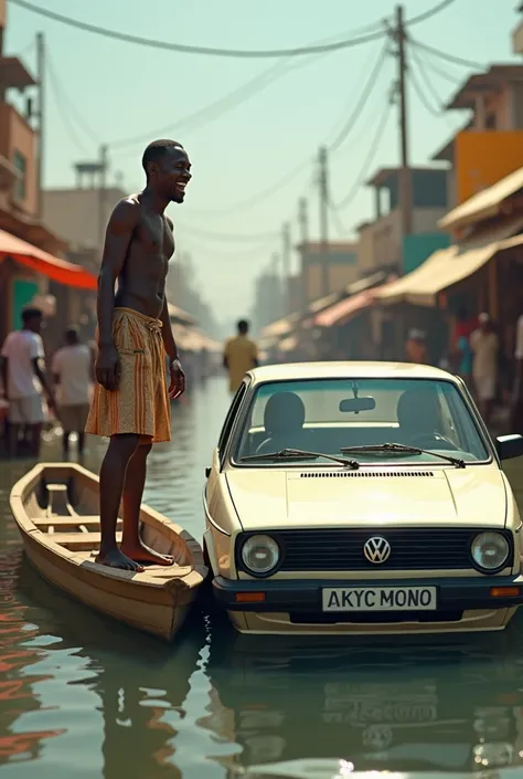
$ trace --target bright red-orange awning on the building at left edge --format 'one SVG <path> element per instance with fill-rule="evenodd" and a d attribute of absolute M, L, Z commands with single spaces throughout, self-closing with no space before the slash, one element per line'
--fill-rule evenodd
<path fill-rule="evenodd" d="M 58 284 L 74 286 L 77 290 L 97 288 L 96 276 L 85 271 L 81 265 L 58 260 L 49 252 L 33 246 L 32 243 L 0 230 L 0 262 L 7 257 L 12 257 L 21 265 L 25 265 L 25 267 L 30 267 L 35 273 L 41 273 Z"/>

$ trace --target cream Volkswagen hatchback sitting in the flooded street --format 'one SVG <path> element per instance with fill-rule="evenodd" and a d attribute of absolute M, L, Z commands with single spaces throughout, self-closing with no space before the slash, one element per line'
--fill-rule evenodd
<path fill-rule="evenodd" d="M 523 523 L 463 381 L 386 362 L 249 371 L 206 470 L 212 588 L 242 633 L 504 629 Z"/>

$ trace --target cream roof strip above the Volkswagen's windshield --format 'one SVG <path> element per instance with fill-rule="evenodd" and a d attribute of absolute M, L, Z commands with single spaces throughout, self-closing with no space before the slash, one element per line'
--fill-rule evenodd
<path fill-rule="evenodd" d="M 265 381 L 292 381 L 296 379 L 458 379 L 440 368 L 414 362 L 339 361 L 286 362 L 266 365 L 248 371 L 255 385 Z"/>

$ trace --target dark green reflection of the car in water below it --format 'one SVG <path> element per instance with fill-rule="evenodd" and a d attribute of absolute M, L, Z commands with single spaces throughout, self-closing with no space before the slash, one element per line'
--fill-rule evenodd
<path fill-rule="evenodd" d="M 346 646 L 332 639 L 213 636 L 209 676 L 234 714 L 223 735 L 243 747 L 244 767 L 305 758 L 312 759 L 310 770 L 329 758 L 356 771 L 521 767 L 523 639 L 516 622 L 481 640 L 408 645 L 403 639 Z"/>

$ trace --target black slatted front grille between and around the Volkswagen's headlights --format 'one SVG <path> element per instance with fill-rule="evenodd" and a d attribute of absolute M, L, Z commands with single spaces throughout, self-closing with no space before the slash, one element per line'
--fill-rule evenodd
<path fill-rule="evenodd" d="M 313 529 L 269 531 L 284 554 L 281 571 L 377 571 L 392 570 L 458 570 L 473 568 L 470 545 L 484 528 L 391 528 Z M 241 534 L 236 548 L 253 534 Z M 514 551 L 512 534 L 503 531 L 509 541 L 509 562 Z M 369 561 L 363 546 L 370 538 L 381 536 L 391 545 L 385 562 Z M 239 556 L 238 556 L 239 558 Z M 243 568 L 241 560 L 238 566 Z"/>

